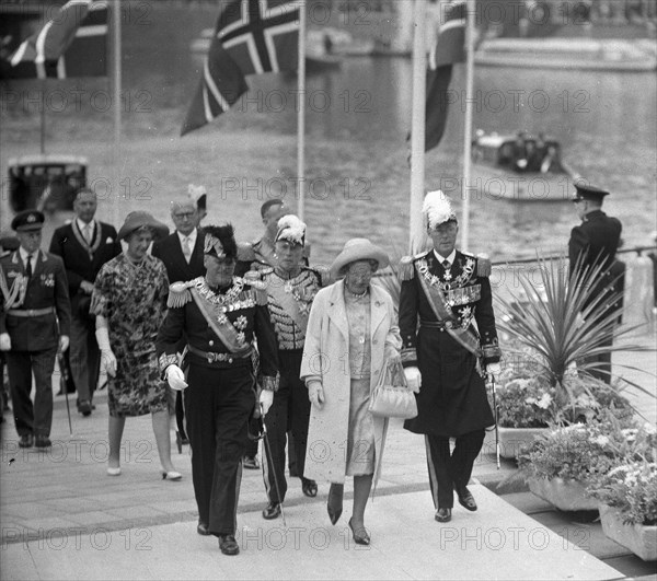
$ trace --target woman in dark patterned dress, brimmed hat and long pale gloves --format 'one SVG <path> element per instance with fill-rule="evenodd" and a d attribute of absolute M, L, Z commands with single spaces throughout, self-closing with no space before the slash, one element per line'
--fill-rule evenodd
<path fill-rule="evenodd" d="M 120 474 L 120 440 L 128 416 L 152 415 L 162 478 L 180 480 L 171 462 L 166 383 L 160 377 L 155 337 L 166 315 L 164 264 L 147 251 L 169 229 L 147 212 L 131 212 L 118 232 L 126 252 L 99 272 L 91 311 L 108 375 L 110 457 L 107 474 Z"/>

